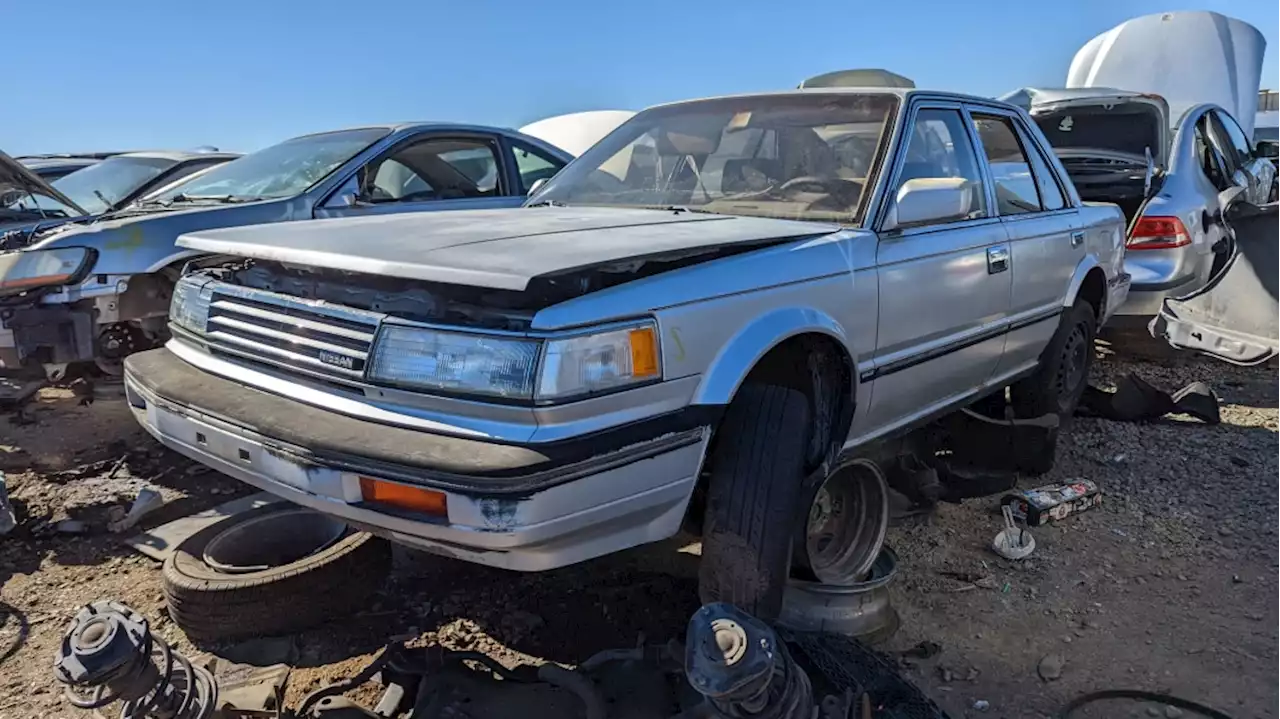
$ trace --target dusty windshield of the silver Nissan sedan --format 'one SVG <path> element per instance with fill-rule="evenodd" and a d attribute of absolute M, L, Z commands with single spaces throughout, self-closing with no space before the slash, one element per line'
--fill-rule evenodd
<path fill-rule="evenodd" d="M 896 106 L 888 93 L 788 93 L 645 110 L 530 203 L 856 224 Z"/>

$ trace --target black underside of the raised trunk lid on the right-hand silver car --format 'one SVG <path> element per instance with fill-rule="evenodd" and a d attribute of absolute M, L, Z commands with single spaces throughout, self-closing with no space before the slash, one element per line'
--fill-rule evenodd
<path fill-rule="evenodd" d="M 1164 155 L 1160 113 L 1146 104 L 1085 105 L 1033 113 L 1055 150 L 1110 150 L 1142 157 L 1147 148 Z"/>

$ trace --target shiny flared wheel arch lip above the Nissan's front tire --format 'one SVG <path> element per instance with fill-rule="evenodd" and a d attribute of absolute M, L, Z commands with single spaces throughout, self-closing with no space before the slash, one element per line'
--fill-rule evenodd
<path fill-rule="evenodd" d="M 712 361 L 694 391 L 694 404 L 728 404 L 742 380 L 771 349 L 801 334 L 823 334 L 849 352 L 847 334 L 833 317 L 812 307 L 782 307 L 755 317 Z M 854 357 L 852 352 L 849 352 Z"/>

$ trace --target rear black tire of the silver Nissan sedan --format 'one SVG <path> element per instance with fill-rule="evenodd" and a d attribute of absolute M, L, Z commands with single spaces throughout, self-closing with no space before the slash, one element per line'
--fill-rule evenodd
<path fill-rule="evenodd" d="M 1057 415 L 1064 423 L 1070 422 L 1089 384 L 1097 334 L 1097 312 L 1088 302 L 1078 299 L 1062 312 L 1053 339 L 1041 354 L 1039 368 L 1009 390 L 1014 415 L 1023 418 Z"/>

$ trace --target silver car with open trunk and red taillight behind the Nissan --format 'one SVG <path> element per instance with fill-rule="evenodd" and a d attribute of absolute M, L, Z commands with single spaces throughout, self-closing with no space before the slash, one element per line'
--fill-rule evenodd
<path fill-rule="evenodd" d="M 1167 297 L 1208 283 L 1226 261 L 1217 196 L 1231 187 L 1262 205 L 1277 192 L 1276 169 L 1216 105 L 1197 105 L 1175 124 L 1156 95 L 1107 88 L 1027 88 L 1020 100 L 1087 201 L 1115 202 L 1129 220 L 1125 270 L 1133 275 L 1120 319 L 1146 324 Z M 1148 170 L 1148 165 L 1151 169 Z"/>

